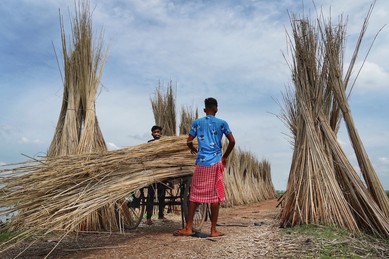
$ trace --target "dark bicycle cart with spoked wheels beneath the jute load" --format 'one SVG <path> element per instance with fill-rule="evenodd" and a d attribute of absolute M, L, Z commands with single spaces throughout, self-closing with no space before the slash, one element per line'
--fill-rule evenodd
<path fill-rule="evenodd" d="M 161 183 L 153 184 L 154 189 L 166 189 L 165 207 L 171 208 L 177 205 L 181 208 L 182 228 L 184 228 L 184 220 L 187 221 L 189 191 L 191 186 L 192 176 L 184 176 L 172 180 L 166 180 Z M 178 185 L 175 194 L 174 186 Z M 115 203 L 115 217 L 117 225 L 122 229 L 135 229 L 143 219 L 143 214 L 147 203 L 147 188 L 143 187 L 134 193 L 130 193 Z M 159 205 L 158 201 L 152 202 L 152 205 Z M 192 231 L 198 232 L 202 228 L 207 217 L 207 203 L 200 203 L 196 208 L 195 217 L 193 218 Z"/>

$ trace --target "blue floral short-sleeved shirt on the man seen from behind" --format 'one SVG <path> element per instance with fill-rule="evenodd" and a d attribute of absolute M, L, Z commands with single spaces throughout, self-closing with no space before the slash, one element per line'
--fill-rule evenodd
<path fill-rule="evenodd" d="M 221 139 L 231 133 L 226 121 L 212 115 L 196 119 L 192 123 L 190 135 L 197 137 L 198 152 L 196 164 L 213 166 L 221 160 Z"/>

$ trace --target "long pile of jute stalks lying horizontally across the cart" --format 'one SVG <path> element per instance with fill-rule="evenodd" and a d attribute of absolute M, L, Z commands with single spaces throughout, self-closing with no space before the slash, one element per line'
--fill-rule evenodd
<path fill-rule="evenodd" d="M 186 139 L 164 137 L 115 151 L 19 163 L 19 168 L 0 171 L 9 174 L 0 180 L 0 200 L 7 207 L 1 215 L 18 212 L 6 224 L 10 231 L 21 231 L 15 238 L 56 229 L 66 230 L 65 235 L 93 212 L 100 212 L 93 221 L 96 229 L 116 229 L 102 208 L 113 208 L 116 200 L 141 187 L 193 173 L 196 156 L 188 152 Z"/>

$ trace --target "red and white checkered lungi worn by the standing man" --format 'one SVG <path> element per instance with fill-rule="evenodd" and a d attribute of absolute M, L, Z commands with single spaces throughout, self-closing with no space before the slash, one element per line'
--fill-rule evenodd
<path fill-rule="evenodd" d="M 189 200 L 200 203 L 224 202 L 223 171 L 221 161 L 209 167 L 196 165 Z"/>

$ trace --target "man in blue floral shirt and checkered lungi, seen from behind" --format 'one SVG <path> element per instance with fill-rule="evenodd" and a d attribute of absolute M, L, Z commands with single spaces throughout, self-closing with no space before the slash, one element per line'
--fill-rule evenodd
<path fill-rule="evenodd" d="M 217 101 L 207 98 L 204 101 L 205 117 L 193 122 L 187 146 L 192 154 L 197 154 L 196 168 L 191 182 L 189 194 L 188 221 L 185 228 L 176 230 L 175 236 L 189 236 L 192 233 L 193 217 L 199 203 L 211 204 L 211 237 L 222 236 L 216 230 L 219 216 L 219 202 L 224 202 L 224 177 L 223 171 L 227 165 L 228 155 L 234 148 L 235 139 L 226 121 L 215 117 Z M 221 140 L 223 134 L 228 139 L 226 151 L 222 152 Z M 193 146 L 193 140 L 197 137 L 198 149 Z"/>

